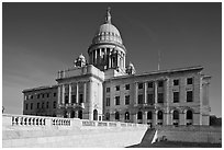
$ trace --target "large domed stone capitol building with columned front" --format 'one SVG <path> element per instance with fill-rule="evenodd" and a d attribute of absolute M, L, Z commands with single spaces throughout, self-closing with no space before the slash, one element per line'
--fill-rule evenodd
<path fill-rule="evenodd" d="M 203 67 L 136 73 L 112 24 L 110 9 L 88 50 L 55 85 L 23 90 L 23 114 L 156 125 L 209 125 L 209 84 Z"/>

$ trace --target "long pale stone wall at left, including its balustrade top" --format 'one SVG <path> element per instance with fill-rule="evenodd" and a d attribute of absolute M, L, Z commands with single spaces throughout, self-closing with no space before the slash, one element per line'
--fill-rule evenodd
<path fill-rule="evenodd" d="M 146 125 L 25 115 L 2 116 L 2 147 L 127 147 Z"/>

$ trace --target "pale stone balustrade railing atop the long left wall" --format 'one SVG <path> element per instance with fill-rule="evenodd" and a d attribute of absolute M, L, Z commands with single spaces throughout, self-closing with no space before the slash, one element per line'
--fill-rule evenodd
<path fill-rule="evenodd" d="M 144 124 L 135 123 L 121 123 L 121 122 L 100 122 L 88 120 L 79 118 L 60 118 L 60 117 L 43 117 L 43 116 L 29 116 L 29 115 L 2 115 L 2 125 L 4 127 L 18 127 L 18 126 L 36 126 L 36 127 L 147 127 Z"/>

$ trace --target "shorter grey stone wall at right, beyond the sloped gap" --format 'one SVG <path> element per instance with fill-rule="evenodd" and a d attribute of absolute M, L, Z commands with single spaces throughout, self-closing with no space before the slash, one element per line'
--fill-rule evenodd
<path fill-rule="evenodd" d="M 157 127 L 157 137 L 169 141 L 222 143 L 222 128 L 211 126 Z"/>

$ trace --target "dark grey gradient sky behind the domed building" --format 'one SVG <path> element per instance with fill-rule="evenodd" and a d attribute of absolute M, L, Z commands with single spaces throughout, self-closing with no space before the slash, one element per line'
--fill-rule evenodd
<path fill-rule="evenodd" d="M 3 3 L 2 76 L 5 113 L 22 114 L 22 90 L 56 84 L 72 67 L 111 7 L 138 73 L 202 65 L 212 76 L 210 104 L 222 114 L 222 3 Z"/>

